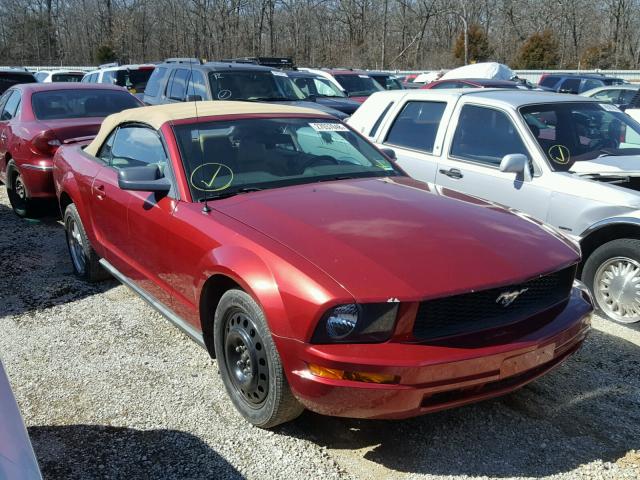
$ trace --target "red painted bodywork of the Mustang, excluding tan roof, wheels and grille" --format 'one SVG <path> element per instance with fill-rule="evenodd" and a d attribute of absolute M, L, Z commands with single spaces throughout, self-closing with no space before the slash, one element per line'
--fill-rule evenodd
<path fill-rule="evenodd" d="M 252 192 L 203 212 L 191 202 L 171 127 L 160 131 L 179 199 L 119 190 L 115 170 L 79 146 L 55 156 L 58 195 L 76 203 L 101 256 L 198 330 L 213 319 L 200 311 L 205 282 L 222 275 L 240 285 L 263 309 L 291 388 L 312 410 L 400 418 L 489 398 L 545 373 L 584 340 L 592 307 L 575 288 L 564 304 L 495 334 L 422 343 L 411 335 L 417 302 L 576 264 L 574 247 L 537 222 L 408 177 Z M 389 341 L 310 343 L 328 308 L 390 298 L 400 313 Z M 400 381 L 329 380 L 308 363 Z"/>

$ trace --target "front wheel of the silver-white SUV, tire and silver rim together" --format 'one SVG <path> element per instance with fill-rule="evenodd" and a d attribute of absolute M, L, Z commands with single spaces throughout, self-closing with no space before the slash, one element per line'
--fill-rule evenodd
<path fill-rule="evenodd" d="M 582 280 L 600 315 L 620 323 L 640 321 L 640 240 L 623 238 L 598 247 L 584 264 Z"/>

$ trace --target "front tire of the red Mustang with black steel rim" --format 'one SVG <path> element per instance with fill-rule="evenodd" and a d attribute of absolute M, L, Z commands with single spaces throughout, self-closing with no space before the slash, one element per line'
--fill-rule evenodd
<path fill-rule="evenodd" d="M 247 421 L 271 428 L 303 412 L 289 388 L 264 313 L 250 295 L 227 291 L 216 308 L 213 328 L 220 376 Z"/>

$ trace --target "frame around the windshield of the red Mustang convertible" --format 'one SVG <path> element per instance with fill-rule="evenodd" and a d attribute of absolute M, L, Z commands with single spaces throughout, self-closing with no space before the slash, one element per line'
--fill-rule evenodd
<path fill-rule="evenodd" d="M 231 193 L 231 195 L 234 195 L 236 193 L 250 192 L 250 191 L 279 189 L 279 188 L 291 187 L 291 186 L 297 186 L 297 185 L 309 185 L 309 184 L 325 182 L 325 181 L 340 181 L 343 179 L 350 179 L 350 178 L 385 178 L 385 177 L 398 177 L 398 176 L 406 177 L 407 176 L 407 173 L 404 172 L 404 170 L 402 170 L 395 161 L 393 161 L 392 159 L 389 159 L 368 138 L 358 133 L 349 125 L 336 121 L 333 118 L 318 116 L 315 114 L 302 114 L 302 113 L 300 114 L 282 114 L 282 113 L 281 114 L 264 114 L 264 113 L 229 114 L 229 115 L 201 117 L 197 120 L 193 118 L 189 118 L 189 119 L 173 121 L 170 125 L 170 129 L 175 139 L 176 149 L 179 154 L 178 164 L 179 164 L 179 167 L 182 169 L 182 173 L 184 175 L 183 181 L 186 187 L 186 193 L 189 195 L 192 203 L 216 200 L 217 199 L 216 197 L 219 197 L 220 199 L 227 198 L 231 195 L 227 194 L 227 189 L 221 192 L 215 192 L 215 193 L 222 193 L 222 195 L 219 195 L 219 196 L 216 195 L 215 193 L 210 193 L 206 196 L 198 195 L 199 190 L 196 188 L 193 188 L 190 182 L 190 177 L 191 175 L 193 175 L 193 172 L 195 171 L 195 169 L 191 171 L 189 170 L 189 166 L 187 165 L 187 161 L 185 159 L 185 152 L 180 142 L 180 132 L 178 131 L 178 128 L 186 127 L 186 129 L 191 128 L 193 130 L 193 127 L 196 125 L 204 126 L 204 125 L 210 125 L 214 123 L 228 123 L 228 122 L 236 122 L 236 121 L 244 121 L 244 120 L 272 120 L 272 119 L 284 119 L 284 120 L 302 119 L 302 120 L 307 120 L 312 122 L 315 121 L 320 123 L 340 123 L 341 125 L 344 125 L 349 130 L 349 133 L 355 135 L 361 142 L 366 144 L 373 151 L 377 152 L 381 156 L 381 158 L 384 159 L 389 164 L 389 166 L 391 166 L 391 169 L 389 170 L 381 169 L 380 172 L 359 172 L 359 173 L 345 172 L 344 174 L 332 173 L 327 175 L 318 175 L 315 177 L 293 176 L 293 177 L 285 178 L 284 180 L 276 180 L 273 182 L 263 182 L 260 184 L 243 184 L 243 185 L 239 185 L 238 186 L 239 188 L 237 189 L 229 189 L 230 190 L 229 193 Z M 377 174 L 374 174 L 374 173 L 377 173 Z M 199 197 L 202 197 L 202 198 L 199 198 Z"/>

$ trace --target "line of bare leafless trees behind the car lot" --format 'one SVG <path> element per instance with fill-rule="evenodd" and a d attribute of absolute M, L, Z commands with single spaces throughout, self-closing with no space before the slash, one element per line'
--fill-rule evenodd
<path fill-rule="evenodd" d="M 639 7 L 640 0 L 2 0 L 0 64 L 291 56 L 298 65 L 420 70 L 466 57 L 524 69 L 637 69 Z"/>

